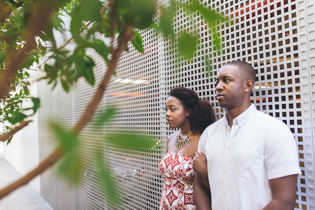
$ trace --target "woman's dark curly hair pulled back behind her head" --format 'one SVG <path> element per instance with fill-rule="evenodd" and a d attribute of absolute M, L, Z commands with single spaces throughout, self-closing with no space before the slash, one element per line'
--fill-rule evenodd
<path fill-rule="evenodd" d="M 188 116 L 191 125 L 190 130 L 196 127 L 202 133 L 209 125 L 216 121 L 211 103 L 205 99 L 200 100 L 194 90 L 176 87 L 169 91 L 169 96 L 179 99 L 185 109 L 190 109 Z"/>

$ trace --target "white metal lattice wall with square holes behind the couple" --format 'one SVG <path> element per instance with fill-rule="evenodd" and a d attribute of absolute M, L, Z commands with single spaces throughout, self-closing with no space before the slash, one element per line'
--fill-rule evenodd
<path fill-rule="evenodd" d="M 181 0 L 181 2 L 187 2 Z M 189 2 L 189 0 L 188 0 Z M 298 147 L 303 175 L 298 179 L 296 209 L 314 210 L 314 113 L 315 113 L 315 23 L 312 1 L 303 0 L 200 0 L 205 7 L 229 17 L 217 22 L 221 50 L 213 45 L 211 28 L 199 13 L 178 10 L 173 26 L 175 33 L 200 33 L 192 60 L 185 60 L 175 44 L 154 30 L 141 31 L 145 54 L 129 43 L 129 53 L 119 60 L 117 76 L 112 77 L 100 108 L 117 107 L 115 118 L 103 127 L 90 123 L 80 136 L 86 165 L 80 187 L 68 186 L 65 177 L 57 177 L 55 168 L 41 176 L 41 193 L 55 209 L 158 210 L 162 178 L 158 164 L 166 153 L 166 138 L 172 132 L 165 121 L 165 102 L 173 87 L 195 90 L 208 99 L 217 118 L 224 114 L 215 94 L 215 78 L 221 66 L 233 60 L 244 60 L 256 70 L 256 85 L 251 101 L 256 108 L 279 120 L 292 131 Z M 168 5 L 167 1 L 159 1 Z M 159 15 L 159 14 L 158 14 Z M 158 15 L 156 21 L 158 21 Z M 102 38 L 102 37 L 99 37 Z M 115 43 L 114 43 L 115 44 Z M 73 49 L 73 43 L 66 45 Z M 96 85 L 106 66 L 95 52 Z M 95 89 L 84 80 L 69 93 L 61 87 L 53 92 L 43 83 L 39 86 L 42 107 L 39 110 L 40 158 L 56 146 L 47 120 L 62 121 L 72 127 L 79 119 Z M 95 113 L 95 118 L 100 111 Z M 47 133 L 44 131 L 48 131 Z M 157 141 L 151 150 L 117 147 L 105 139 L 108 132 L 131 133 Z M 101 194 L 97 172 L 89 167 L 95 159 L 91 148 L 104 149 L 115 179 L 120 183 L 120 206 Z"/>

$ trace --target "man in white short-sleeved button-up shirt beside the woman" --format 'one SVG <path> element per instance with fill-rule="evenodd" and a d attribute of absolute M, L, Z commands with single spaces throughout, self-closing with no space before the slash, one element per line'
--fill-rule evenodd
<path fill-rule="evenodd" d="M 227 63 L 218 73 L 217 99 L 226 112 L 199 140 L 193 165 L 198 210 L 295 207 L 301 174 L 296 143 L 282 121 L 251 105 L 255 77 L 252 66 L 244 61 Z M 203 161 L 207 161 L 206 172 Z"/>

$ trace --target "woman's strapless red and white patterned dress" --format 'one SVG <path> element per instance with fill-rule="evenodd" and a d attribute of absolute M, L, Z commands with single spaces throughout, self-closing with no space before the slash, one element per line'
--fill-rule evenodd
<path fill-rule="evenodd" d="M 159 164 L 164 178 L 160 210 L 196 210 L 192 182 L 195 172 L 192 157 L 186 154 L 167 152 Z"/>

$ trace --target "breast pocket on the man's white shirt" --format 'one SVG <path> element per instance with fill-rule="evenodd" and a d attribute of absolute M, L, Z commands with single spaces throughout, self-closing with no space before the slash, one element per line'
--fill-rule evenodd
<path fill-rule="evenodd" d="M 236 175 L 248 180 L 260 178 L 263 174 L 264 156 L 258 151 L 236 152 Z"/>

